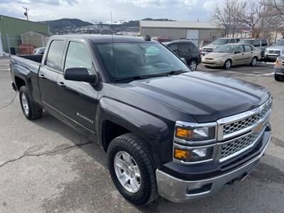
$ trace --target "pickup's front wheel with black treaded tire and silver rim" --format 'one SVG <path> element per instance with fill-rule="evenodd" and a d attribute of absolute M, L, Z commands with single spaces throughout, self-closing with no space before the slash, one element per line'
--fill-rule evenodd
<path fill-rule="evenodd" d="M 134 171 L 131 171 L 131 165 L 129 165 L 128 168 L 125 168 L 127 160 L 124 158 L 128 159 L 127 154 L 129 154 L 129 158 L 131 159 L 131 165 L 133 165 L 133 168 L 136 168 Z M 124 155 L 126 157 L 124 157 Z M 116 163 L 114 163 L 115 160 L 117 160 Z M 119 190 L 126 200 L 129 200 L 129 202 L 136 205 L 146 205 L 158 198 L 159 195 L 155 180 L 153 158 L 149 149 L 146 147 L 146 143 L 141 140 L 141 138 L 133 135 L 133 133 L 126 133 L 114 138 L 107 150 L 107 163 L 111 179 L 114 182 L 116 189 Z M 120 163 L 121 165 L 119 165 Z M 139 175 L 133 175 L 132 172 L 135 174 L 139 173 L 140 179 L 138 178 Z M 116 173 L 119 174 L 116 175 Z M 122 185 L 121 182 L 125 182 L 127 178 L 125 178 L 125 180 L 122 178 L 119 180 L 118 178 L 119 175 L 124 178 L 124 176 L 126 177 L 127 174 L 131 173 L 133 175 L 131 177 L 133 179 L 131 180 L 137 180 L 137 182 L 140 180 L 140 185 L 138 184 L 137 188 L 130 187 L 131 180 L 127 180 L 126 184 Z M 129 177 L 129 175 L 127 177 Z"/>

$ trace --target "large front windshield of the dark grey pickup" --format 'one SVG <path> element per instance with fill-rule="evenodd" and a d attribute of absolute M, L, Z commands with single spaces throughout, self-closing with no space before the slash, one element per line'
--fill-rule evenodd
<path fill-rule="evenodd" d="M 187 65 L 160 43 L 105 43 L 96 47 L 114 81 L 190 71 Z"/>

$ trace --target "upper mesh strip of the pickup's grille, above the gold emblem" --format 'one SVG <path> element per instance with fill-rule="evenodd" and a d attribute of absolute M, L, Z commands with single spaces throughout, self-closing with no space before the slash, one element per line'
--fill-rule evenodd
<path fill-rule="evenodd" d="M 223 127 L 223 135 L 227 135 L 229 133 L 234 133 L 235 131 L 239 131 L 241 129 L 245 129 L 253 124 L 256 124 L 257 121 L 263 119 L 268 110 L 271 108 L 271 104 L 266 105 L 259 113 L 253 114 L 245 119 L 241 119 L 239 121 L 235 121 L 229 124 L 225 124 Z"/>

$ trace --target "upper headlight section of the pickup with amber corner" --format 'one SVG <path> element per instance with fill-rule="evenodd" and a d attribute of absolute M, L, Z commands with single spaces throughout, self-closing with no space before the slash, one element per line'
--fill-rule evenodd
<path fill-rule="evenodd" d="M 177 126 L 175 137 L 185 141 L 209 141 L 215 138 L 215 126 Z"/>

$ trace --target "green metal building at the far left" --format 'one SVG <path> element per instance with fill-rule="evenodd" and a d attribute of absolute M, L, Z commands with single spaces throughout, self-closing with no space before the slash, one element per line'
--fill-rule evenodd
<path fill-rule="evenodd" d="M 49 34 L 49 26 L 43 23 L 26 21 L 20 18 L 0 14 L 0 47 L 6 53 L 18 53 L 18 45 L 22 44 L 21 34 L 28 31 Z"/>

